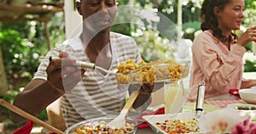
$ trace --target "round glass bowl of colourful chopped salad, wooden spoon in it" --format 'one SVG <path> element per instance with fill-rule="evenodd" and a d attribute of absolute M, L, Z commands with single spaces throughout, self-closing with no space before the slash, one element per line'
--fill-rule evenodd
<path fill-rule="evenodd" d="M 70 126 L 65 131 L 65 134 L 135 134 L 137 131 L 137 120 L 131 118 L 125 118 L 124 128 L 109 128 L 108 122 L 116 118 L 117 116 L 102 116 L 93 118 L 90 120 L 84 120 L 73 126 Z"/>

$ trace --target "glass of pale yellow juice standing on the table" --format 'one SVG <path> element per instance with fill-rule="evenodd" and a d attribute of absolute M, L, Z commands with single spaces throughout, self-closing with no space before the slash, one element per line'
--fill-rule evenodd
<path fill-rule="evenodd" d="M 183 108 L 183 87 L 181 80 L 164 81 L 165 114 L 177 114 Z"/>

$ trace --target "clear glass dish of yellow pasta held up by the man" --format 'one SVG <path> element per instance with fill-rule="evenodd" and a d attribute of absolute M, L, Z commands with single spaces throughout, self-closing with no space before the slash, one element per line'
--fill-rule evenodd
<path fill-rule="evenodd" d="M 189 60 L 151 61 L 136 64 L 128 60 L 118 67 L 119 83 L 154 83 L 158 81 L 179 80 L 189 75 Z"/>

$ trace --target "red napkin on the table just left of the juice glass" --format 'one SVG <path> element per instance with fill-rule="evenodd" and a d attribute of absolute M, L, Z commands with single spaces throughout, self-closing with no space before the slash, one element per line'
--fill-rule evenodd
<path fill-rule="evenodd" d="M 137 117 L 137 120 L 141 120 L 143 123 L 140 123 L 140 124 L 138 125 L 138 128 L 146 128 L 146 127 L 149 127 L 147 121 L 143 119 L 143 116 L 145 116 L 145 115 L 153 115 L 153 114 L 165 114 L 165 108 L 157 109 L 156 111 L 151 112 L 151 113 L 145 112 L 145 113 L 143 113 L 143 114 L 140 114 L 140 115 Z"/>

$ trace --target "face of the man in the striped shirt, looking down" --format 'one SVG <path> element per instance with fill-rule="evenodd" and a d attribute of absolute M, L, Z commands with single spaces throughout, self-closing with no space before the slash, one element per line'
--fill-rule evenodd
<path fill-rule="evenodd" d="M 115 0 L 81 0 L 77 8 L 84 24 L 99 31 L 110 29 L 117 12 Z"/>

